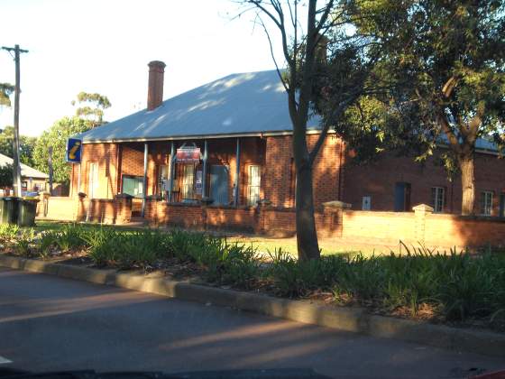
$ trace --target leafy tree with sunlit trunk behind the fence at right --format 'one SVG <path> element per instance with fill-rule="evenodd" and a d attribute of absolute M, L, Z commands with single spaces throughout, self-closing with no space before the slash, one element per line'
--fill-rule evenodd
<path fill-rule="evenodd" d="M 358 25 L 359 32 L 396 36 L 383 51 L 388 64 L 382 74 L 396 83 L 383 104 L 397 130 L 378 123 L 375 132 L 397 139 L 409 134 L 407 140 L 421 149 L 419 158 L 447 145 L 445 162 L 455 162 L 461 174 L 462 213 L 472 214 L 475 143 L 505 141 L 505 6 L 498 0 L 361 2 L 376 14 L 385 4 L 399 23 L 384 26 L 378 18 Z"/>

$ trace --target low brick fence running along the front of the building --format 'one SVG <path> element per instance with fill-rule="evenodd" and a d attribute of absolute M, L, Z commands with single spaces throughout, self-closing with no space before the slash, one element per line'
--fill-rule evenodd
<path fill-rule="evenodd" d="M 131 221 L 133 202 L 115 199 L 50 198 L 45 216 L 43 202 L 38 217 L 59 220 L 127 224 Z M 448 249 L 505 245 L 505 219 L 435 214 L 433 208 L 419 205 L 413 212 L 378 212 L 351 210 L 344 203 L 326 203 L 315 214 L 317 234 L 343 243 L 367 245 L 426 245 Z M 197 230 L 235 230 L 269 236 L 294 236 L 294 208 L 212 207 L 168 204 L 149 199 L 145 218 L 153 225 L 181 226 Z"/>

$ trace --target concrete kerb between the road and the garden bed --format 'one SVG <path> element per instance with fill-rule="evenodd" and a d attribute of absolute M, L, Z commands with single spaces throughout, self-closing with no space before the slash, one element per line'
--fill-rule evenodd
<path fill-rule="evenodd" d="M 188 282 L 174 282 L 165 278 L 151 278 L 135 273 L 116 273 L 114 270 L 96 270 L 2 254 L 0 254 L 0 266 L 113 285 L 179 300 L 211 303 L 373 337 L 396 338 L 449 350 L 505 357 L 505 335 L 489 331 L 449 328 L 408 319 L 370 315 L 362 309 L 330 308 L 305 301 L 272 298 L 252 292 L 225 290 Z"/>

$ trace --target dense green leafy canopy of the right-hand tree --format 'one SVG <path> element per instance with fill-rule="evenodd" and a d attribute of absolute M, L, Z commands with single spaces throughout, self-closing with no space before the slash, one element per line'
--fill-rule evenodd
<path fill-rule="evenodd" d="M 505 5 L 496 0 L 355 0 L 363 35 L 390 35 L 372 78 L 389 83 L 362 97 L 344 134 L 358 154 L 403 149 L 418 160 L 445 142 L 452 157 L 471 159 L 477 138 L 503 144 L 505 121 Z M 372 15 L 367 17 L 366 15 Z M 345 130 L 347 128 L 347 130 Z M 339 130 L 340 131 L 340 130 Z M 457 171 L 457 170 L 456 170 Z"/>

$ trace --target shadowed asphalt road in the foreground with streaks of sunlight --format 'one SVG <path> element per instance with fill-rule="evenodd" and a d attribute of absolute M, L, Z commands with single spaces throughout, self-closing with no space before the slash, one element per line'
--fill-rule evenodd
<path fill-rule="evenodd" d="M 310 367 L 333 377 L 457 378 L 505 362 L 0 269 L 0 368 L 7 366 L 167 373 Z"/>

